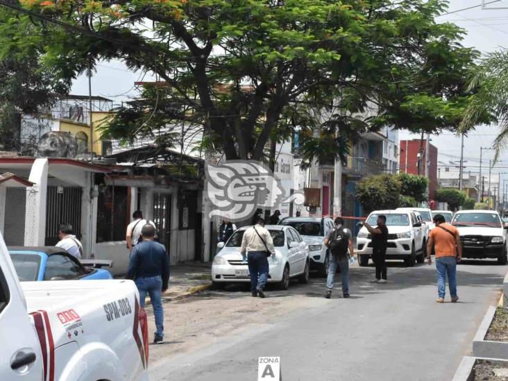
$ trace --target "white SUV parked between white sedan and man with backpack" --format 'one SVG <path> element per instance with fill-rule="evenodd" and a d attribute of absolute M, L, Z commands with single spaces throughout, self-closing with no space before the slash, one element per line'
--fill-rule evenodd
<path fill-rule="evenodd" d="M 329 255 L 325 237 L 334 227 L 330 217 L 286 217 L 279 225 L 291 226 L 300 233 L 309 245 L 310 269 L 317 270 L 320 276 L 328 275 Z"/>

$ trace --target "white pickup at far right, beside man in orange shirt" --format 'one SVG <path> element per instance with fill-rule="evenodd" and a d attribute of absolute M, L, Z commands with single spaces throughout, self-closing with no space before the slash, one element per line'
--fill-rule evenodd
<path fill-rule="evenodd" d="M 463 258 L 496 258 L 507 264 L 507 228 L 493 210 L 459 210 L 452 219 L 459 230 Z"/>

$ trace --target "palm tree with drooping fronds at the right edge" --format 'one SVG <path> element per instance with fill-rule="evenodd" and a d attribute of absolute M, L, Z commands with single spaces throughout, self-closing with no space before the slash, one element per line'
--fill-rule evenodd
<path fill-rule="evenodd" d="M 508 50 L 489 53 L 475 67 L 468 85 L 475 92 L 466 108 L 459 131 L 466 133 L 482 121 L 498 123 L 500 133 L 494 139 L 494 161 L 508 144 Z"/>

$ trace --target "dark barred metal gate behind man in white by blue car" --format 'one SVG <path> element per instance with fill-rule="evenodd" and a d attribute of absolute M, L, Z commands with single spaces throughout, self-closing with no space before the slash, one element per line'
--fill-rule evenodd
<path fill-rule="evenodd" d="M 81 187 L 48 187 L 46 199 L 45 244 L 53 246 L 58 242 L 58 226 L 70 223 L 74 235 L 81 238 Z"/>

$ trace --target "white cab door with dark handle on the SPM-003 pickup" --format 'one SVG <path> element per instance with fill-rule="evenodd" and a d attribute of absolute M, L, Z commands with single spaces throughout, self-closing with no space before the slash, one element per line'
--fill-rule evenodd
<path fill-rule="evenodd" d="M 21 297 L 21 287 L 8 254 L 0 253 L 0 380 L 40 381 L 41 346 Z M 35 312 L 33 320 L 45 335 L 45 312 Z M 44 337 L 44 340 L 46 338 Z M 45 349 L 45 348 L 44 348 Z"/>

